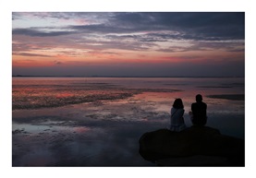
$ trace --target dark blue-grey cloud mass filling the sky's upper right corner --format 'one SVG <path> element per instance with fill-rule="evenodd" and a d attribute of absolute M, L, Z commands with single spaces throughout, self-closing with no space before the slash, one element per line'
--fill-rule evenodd
<path fill-rule="evenodd" d="M 184 38 L 196 40 L 244 39 L 245 33 L 245 15 L 242 12 L 118 13 L 113 24 L 139 30 L 177 30 L 186 34 Z"/>

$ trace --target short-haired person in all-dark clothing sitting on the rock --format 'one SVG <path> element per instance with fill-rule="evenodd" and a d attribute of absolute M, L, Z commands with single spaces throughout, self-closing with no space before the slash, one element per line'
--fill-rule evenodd
<path fill-rule="evenodd" d="M 196 101 L 191 104 L 190 119 L 193 125 L 205 125 L 207 122 L 207 104 L 202 101 L 201 94 L 196 96 Z"/>

